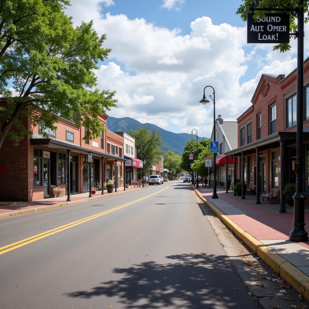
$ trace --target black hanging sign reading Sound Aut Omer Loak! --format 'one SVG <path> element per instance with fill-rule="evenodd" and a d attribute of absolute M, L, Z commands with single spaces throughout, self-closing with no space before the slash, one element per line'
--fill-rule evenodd
<path fill-rule="evenodd" d="M 247 43 L 289 43 L 290 15 L 288 13 L 268 13 L 265 17 L 253 19 L 247 14 Z"/>

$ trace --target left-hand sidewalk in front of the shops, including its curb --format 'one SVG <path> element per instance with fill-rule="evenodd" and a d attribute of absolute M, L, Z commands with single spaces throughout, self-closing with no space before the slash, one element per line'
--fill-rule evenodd
<path fill-rule="evenodd" d="M 125 188 L 125 191 L 123 188 L 117 188 L 117 192 L 113 193 L 107 193 L 106 190 L 104 190 L 104 195 L 102 195 L 102 191 L 97 191 L 96 194 L 92 194 L 92 197 L 89 197 L 89 192 L 86 193 L 79 193 L 79 194 L 71 194 L 70 198 L 71 201 L 66 201 L 67 195 L 62 197 L 53 197 L 43 200 L 37 200 L 32 202 L 20 202 L 17 204 L 7 204 L 7 205 L 1 205 L 0 206 L 0 218 L 9 217 L 17 214 L 25 214 L 28 212 L 33 211 L 39 211 L 39 210 L 45 210 L 50 208 L 56 208 L 66 205 L 73 205 L 77 203 L 82 203 L 90 200 L 97 200 L 103 197 L 110 197 L 116 194 L 123 194 L 126 192 L 132 192 L 135 190 L 140 190 L 142 188 Z"/>

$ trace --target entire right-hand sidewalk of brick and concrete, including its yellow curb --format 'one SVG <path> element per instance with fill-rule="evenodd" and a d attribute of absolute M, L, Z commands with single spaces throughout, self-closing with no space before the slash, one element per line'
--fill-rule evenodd
<path fill-rule="evenodd" d="M 279 214 L 280 205 L 262 202 L 256 205 L 256 196 L 233 196 L 218 188 L 218 199 L 212 199 L 212 188 L 196 189 L 197 195 L 218 217 L 246 243 L 261 259 L 309 300 L 309 243 L 288 240 L 293 228 L 293 207 Z M 222 190 L 222 191 L 220 191 Z M 309 211 L 305 211 L 305 222 Z"/>

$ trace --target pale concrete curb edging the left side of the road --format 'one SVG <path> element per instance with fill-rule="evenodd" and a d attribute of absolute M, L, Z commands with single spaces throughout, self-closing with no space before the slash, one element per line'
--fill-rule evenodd
<path fill-rule="evenodd" d="M 141 188 L 136 188 L 135 190 L 140 190 Z M 99 200 L 101 198 L 104 197 L 112 197 L 115 195 L 119 195 L 119 194 L 123 194 L 123 193 L 128 193 L 128 192 L 135 192 L 135 190 L 130 190 L 130 191 L 124 191 L 122 190 L 121 192 L 117 192 L 114 194 L 110 194 L 110 195 L 101 195 L 101 196 L 97 196 L 97 197 L 86 197 L 82 200 L 79 201 L 70 201 L 70 202 L 64 202 L 64 203 L 58 203 L 58 204 L 53 204 L 53 205 L 45 205 L 45 206 L 41 206 L 41 207 L 34 207 L 34 208 L 28 208 L 28 209 L 24 209 L 24 210 L 16 210 L 16 211 L 10 211 L 4 214 L 0 214 L 0 219 L 1 218 L 6 218 L 6 217 L 12 217 L 18 214 L 27 214 L 27 213 L 31 213 L 34 211 L 40 211 L 40 210 L 49 210 L 49 209 L 53 209 L 53 208 L 59 208 L 59 207 L 63 207 L 63 206 L 69 206 L 69 205 L 74 205 L 74 204 L 79 204 L 79 203 L 84 203 L 87 201 L 95 201 L 95 200 Z"/>

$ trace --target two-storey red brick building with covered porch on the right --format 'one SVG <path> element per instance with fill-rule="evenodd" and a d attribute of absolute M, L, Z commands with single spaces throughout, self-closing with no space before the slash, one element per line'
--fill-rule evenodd
<path fill-rule="evenodd" d="M 296 182 L 296 74 L 296 69 L 287 76 L 262 74 L 252 105 L 237 118 L 238 148 L 225 153 L 244 163 L 235 176 L 245 184 L 256 185 L 260 193 L 280 189 L 281 208 L 285 184 Z M 304 193 L 309 195 L 309 58 L 304 61 L 303 128 Z"/>

